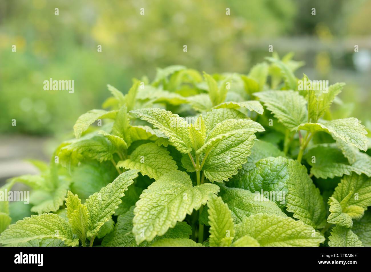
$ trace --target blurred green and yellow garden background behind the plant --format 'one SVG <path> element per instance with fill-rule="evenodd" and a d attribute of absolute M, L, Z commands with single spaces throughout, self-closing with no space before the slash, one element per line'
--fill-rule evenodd
<path fill-rule="evenodd" d="M 132 77 L 172 64 L 247 74 L 269 45 L 305 61 L 297 77 L 347 83 L 340 97 L 365 124 L 370 14 L 371 0 L 0 0 L 0 161 L 45 159 L 79 115 L 101 107 L 106 84 L 126 93 Z M 44 91 L 49 78 L 75 80 L 75 92 Z"/>

